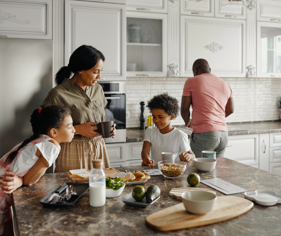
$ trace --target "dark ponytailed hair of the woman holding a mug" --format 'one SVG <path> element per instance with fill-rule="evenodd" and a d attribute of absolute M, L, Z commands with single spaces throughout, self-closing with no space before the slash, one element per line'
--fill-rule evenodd
<path fill-rule="evenodd" d="M 70 56 L 68 66 L 62 66 L 56 73 L 56 84 L 61 84 L 64 78 L 69 79 L 72 73 L 93 68 L 100 59 L 105 61 L 102 52 L 96 48 L 89 45 L 80 46 Z"/>

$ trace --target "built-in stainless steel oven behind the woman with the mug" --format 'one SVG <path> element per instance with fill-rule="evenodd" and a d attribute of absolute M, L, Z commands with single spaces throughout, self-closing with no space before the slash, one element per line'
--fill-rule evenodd
<path fill-rule="evenodd" d="M 105 143 L 126 142 L 126 81 L 98 81 L 107 100 L 106 120 L 116 124 L 114 138 L 105 138 Z"/>

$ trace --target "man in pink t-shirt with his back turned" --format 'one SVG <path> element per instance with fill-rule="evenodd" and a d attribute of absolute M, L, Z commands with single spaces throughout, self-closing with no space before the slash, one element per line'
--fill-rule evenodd
<path fill-rule="evenodd" d="M 225 117 L 234 111 L 230 85 L 211 74 L 204 59 L 193 63 L 193 75 L 185 82 L 181 98 L 181 116 L 185 125 L 193 129 L 190 147 L 196 158 L 202 157 L 205 150 L 216 151 L 216 157 L 222 157 L 228 137 Z"/>

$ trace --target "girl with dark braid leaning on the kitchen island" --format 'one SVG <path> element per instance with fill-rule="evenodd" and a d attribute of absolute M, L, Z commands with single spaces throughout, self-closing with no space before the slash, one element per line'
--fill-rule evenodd
<path fill-rule="evenodd" d="M 33 135 L 0 159 L 0 235 L 13 235 L 11 193 L 22 184 L 36 183 L 56 160 L 59 143 L 71 142 L 74 137 L 68 108 L 36 109 L 30 122 Z"/>

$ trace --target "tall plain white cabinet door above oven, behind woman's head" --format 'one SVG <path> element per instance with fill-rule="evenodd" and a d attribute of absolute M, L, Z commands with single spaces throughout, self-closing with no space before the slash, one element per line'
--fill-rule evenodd
<path fill-rule="evenodd" d="M 79 46 L 100 50 L 106 58 L 102 77 L 126 80 L 126 5 L 65 1 L 65 65 Z"/>

